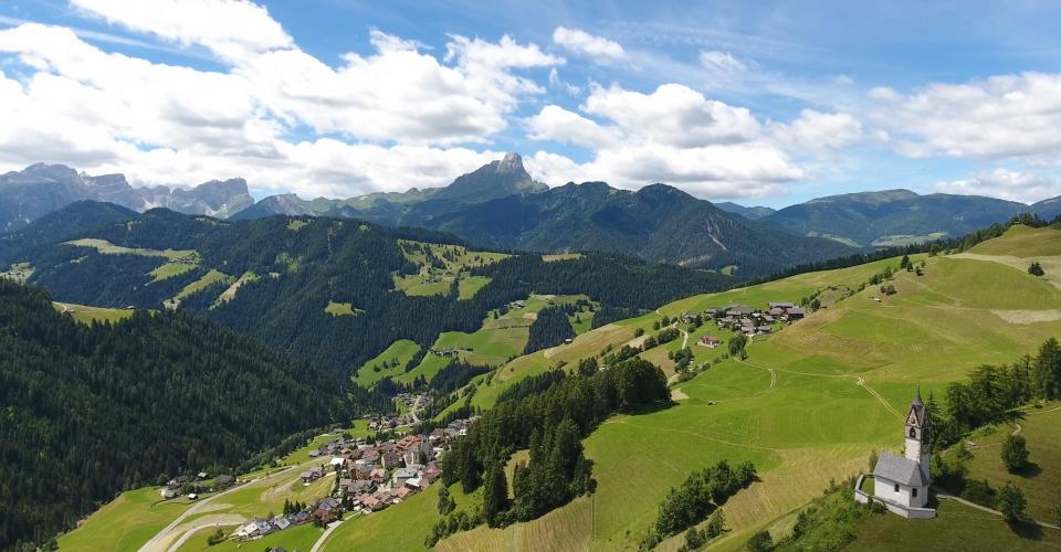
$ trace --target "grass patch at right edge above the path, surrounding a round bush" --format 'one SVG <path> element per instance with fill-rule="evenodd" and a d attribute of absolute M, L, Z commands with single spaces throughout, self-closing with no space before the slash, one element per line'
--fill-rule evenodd
<path fill-rule="evenodd" d="M 973 438 L 976 446 L 969 447 L 973 458 L 965 464 L 966 477 L 986 479 L 996 489 L 1012 482 L 1028 499 L 1028 516 L 1053 523 L 1054 512 L 1061 507 L 1061 406 L 1054 403 L 1041 410 L 1028 408 L 1017 423 L 1028 442 L 1028 468 L 1010 474 L 1002 466 L 1002 443 L 1016 428 L 1001 425 Z"/>

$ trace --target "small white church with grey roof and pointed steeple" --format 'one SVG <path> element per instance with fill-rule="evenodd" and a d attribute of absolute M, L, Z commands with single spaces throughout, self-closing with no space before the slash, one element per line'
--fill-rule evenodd
<path fill-rule="evenodd" d="M 936 517 L 935 509 L 928 508 L 928 488 L 932 476 L 928 473 L 928 458 L 932 447 L 932 420 L 921 391 L 910 405 L 903 429 L 905 449 L 903 456 L 881 453 L 873 468 L 873 495 L 862 490 L 866 476 L 859 477 L 854 489 L 854 499 L 868 503 L 879 502 L 904 518 L 929 519 Z"/>

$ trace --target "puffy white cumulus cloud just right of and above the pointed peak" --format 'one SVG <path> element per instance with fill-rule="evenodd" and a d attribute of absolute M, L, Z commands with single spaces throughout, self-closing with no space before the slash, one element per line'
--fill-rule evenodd
<path fill-rule="evenodd" d="M 775 193 L 807 176 L 748 109 L 686 86 L 650 94 L 593 86 L 580 112 L 551 105 L 524 120 L 535 139 L 592 150 L 584 163 L 539 151 L 527 163 L 536 178 L 630 189 L 664 182 L 705 198 L 739 198 Z"/>

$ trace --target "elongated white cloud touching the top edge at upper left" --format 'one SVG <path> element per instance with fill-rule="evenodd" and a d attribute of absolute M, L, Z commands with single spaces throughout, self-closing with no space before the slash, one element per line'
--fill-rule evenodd
<path fill-rule="evenodd" d="M 86 14 L 182 46 L 239 61 L 293 41 L 262 7 L 245 0 L 71 0 Z"/>

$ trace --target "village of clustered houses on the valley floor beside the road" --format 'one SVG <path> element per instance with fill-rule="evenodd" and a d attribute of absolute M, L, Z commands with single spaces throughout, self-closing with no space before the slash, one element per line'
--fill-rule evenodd
<path fill-rule="evenodd" d="M 399 399 L 407 402 L 407 406 L 422 406 L 420 395 Z M 256 540 L 306 523 L 326 527 L 344 517 L 368 516 L 407 500 L 441 477 L 439 460 L 454 439 L 468 435 L 469 427 L 476 420 L 475 416 L 455 420 L 423 435 L 409 433 L 382 442 L 336 436 L 308 450 L 308 457 L 316 461 L 303 465 L 305 469 L 297 475 L 295 482 L 308 487 L 323 478 L 334 477 L 327 496 L 306 503 L 285 501 L 281 514 L 246 520 L 229 538 Z M 411 415 L 406 418 L 391 413 L 370 420 L 369 428 L 385 432 L 409 422 Z M 230 475 L 216 476 L 211 481 L 207 477 L 206 473 L 196 477 L 179 476 L 169 480 L 159 492 L 165 500 L 180 496 L 197 500 L 200 493 L 246 482 Z"/>

